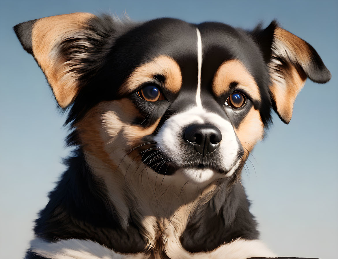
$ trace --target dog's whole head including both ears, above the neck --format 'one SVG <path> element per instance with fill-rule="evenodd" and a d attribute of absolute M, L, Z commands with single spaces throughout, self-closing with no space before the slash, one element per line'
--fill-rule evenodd
<path fill-rule="evenodd" d="M 236 175 L 271 107 L 289 123 L 306 78 L 331 78 L 314 48 L 274 21 L 244 31 L 75 13 L 15 32 L 70 109 L 69 143 L 123 174 L 131 166 L 179 181 Z"/>

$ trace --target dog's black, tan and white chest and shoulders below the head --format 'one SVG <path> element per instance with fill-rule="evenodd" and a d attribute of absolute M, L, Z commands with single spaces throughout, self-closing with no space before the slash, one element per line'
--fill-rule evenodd
<path fill-rule="evenodd" d="M 155 191 L 151 188 L 151 182 L 146 184 L 146 179 L 142 179 L 148 178 L 144 174 L 140 178 L 144 183 L 142 191 L 133 190 L 130 185 L 127 187 L 124 184 L 120 185 L 120 189 L 115 189 L 123 190 L 121 197 L 128 200 L 127 204 L 122 200 L 117 204 L 105 194 L 96 193 L 107 186 L 107 179 L 105 184 L 98 182 L 95 175 L 86 170 L 87 166 L 81 166 L 84 162 L 78 161 L 81 156 L 77 161 L 70 161 L 70 170 L 50 194 L 51 201 L 37 220 L 35 233 L 40 234 L 31 244 L 31 251 L 35 254 L 56 259 L 67 258 L 62 257 L 65 253 L 77 258 L 79 251 L 87 251 L 93 258 L 100 258 L 100 253 L 104 251 L 108 254 L 121 253 L 121 257 L 112 258 L 129 258 L 131 254 L 137 255 L 136 258 L 205 258 L 203 256 L 206 255 L 217 258 L 219 253 L 237 250 L 245 254 L 243 258 L 269 255 L 270 252 L 257 240 L 256 224 L 248 212 L 248 204 L 243 206 L 239 202 L 242 198 L 246 201 L 239 184 L 234 185 L 234 193 L 227 193 L 227 197 L 223 196 L 226 192 L 220 192 L 229 184 L 227 181 L 216 181 L 201 193 L 189 192 L 185 188 L 170 188 L 164 183 L 162 190 Z M 131 179 L 135 177 L 131 176 Z M 76 189 L 75 185 L 79 182 L 82 182 L 82 188 Z M 72 190 L 74 197 L 82 197 L 88 207 L 82 207 L 74 197 L 67 195 L 69 192 L 66 190 Z M 150 194 L 153 198 L 146 199 Z M 93 199 L 97 196 L 100 198 Z M 169 198 L 171 203 L 166 202 Z M 231 203 L 224 203 L 226 198 Z M 107 204 L 102 204 L 102 200 Z M 127 210 L 127 213 L 122 209 Z M 234 211 L 238 212 L 237 216 L 232 214 Z M 124 218 L 126 215 L 127 218 Z M 251 222 L 245 225 L 248 219 Z M 258 245 L 260 249 L 252 250 L 252 245 Z M 87 248 L 84 249 L 84 246 Z M 245 252 L 245 246 L 251 248 Z M 209 252 L 203 253 L 203 250 Z M 100 253 L 96 255 L 95 251 Z M 236 255 L 235 252 L 233 255 Z M 81 257 L 81 253 L 78 258 L 86 258 Z"/>

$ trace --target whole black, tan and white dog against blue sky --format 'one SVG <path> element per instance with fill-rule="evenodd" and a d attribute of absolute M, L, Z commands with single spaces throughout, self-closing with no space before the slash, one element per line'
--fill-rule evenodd
<path fill-rule="evenodd" d="M 73 13 L 14 26 L 68 112 L 74 154 L 26 259 L 276 257 L 241 171 L 307 78 L 331 74 L 274 20 L 133 22 Z"/>

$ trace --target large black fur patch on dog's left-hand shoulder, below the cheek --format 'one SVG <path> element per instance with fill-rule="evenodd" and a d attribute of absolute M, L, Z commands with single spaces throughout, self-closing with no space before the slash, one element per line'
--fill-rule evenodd
<path fill-rule="evenodd" d="M 34 232 L 48 241 L 88 239 L 121 253 L 145 249 L 145 240 L 132 220 L 126 230 L 118 221 L 105 195 L 103 183 L 90 172 L 81 150 L 67 159 L 62 175 L 47 206 L 35 221 Z"/>

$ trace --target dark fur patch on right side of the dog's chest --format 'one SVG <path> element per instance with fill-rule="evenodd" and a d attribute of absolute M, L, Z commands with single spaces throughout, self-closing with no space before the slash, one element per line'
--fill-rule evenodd
<path fill-rule="evenodd" d="M 223 213 L 217 214 L 212 203 L 203 205 L 190 215 L 186 230 L 180 240 L 191 252 L 211 251 L 237 238 L 258 239 L 256 221 L 249 212 L 250 203 L 242 185 L 237 182 L 224 200 Z M 232 215 L 233 214 L 233 215 Z"/>

